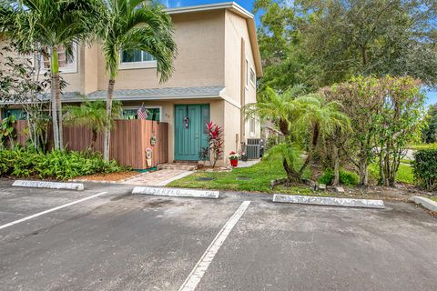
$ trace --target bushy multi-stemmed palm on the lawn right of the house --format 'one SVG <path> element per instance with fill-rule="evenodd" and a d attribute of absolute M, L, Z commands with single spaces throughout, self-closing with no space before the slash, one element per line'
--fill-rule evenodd
<path fill-rule="evenodd" d="M 320 137 L 332 133 L 337 128 L 349 128 L 349 118 L 339 110 L 340 104 L 326 102 L 320 95 L 300 95 L 301 86 L 293 87 L 283 94 L 271 89 L 260 94 L 257 104 L 249 105 L 247 115 L 258 115 L 273 121 L 285 135 L 285 142 L 273 146 L 267 159 L 280 159 L 287 173 L 280 183 L 303 182 L 305 169 L 314 156 Z M 302 148 L 307 155 L 302 162 Z"/>

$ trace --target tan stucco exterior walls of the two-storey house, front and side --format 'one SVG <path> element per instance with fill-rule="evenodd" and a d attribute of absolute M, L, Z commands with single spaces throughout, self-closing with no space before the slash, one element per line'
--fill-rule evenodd
<path fill-rule="evenodd" d="M 197 8 L 196 8 L 197 7 Z M 175 71 L 168 82 L 159 83 L 156 67 L 120 69 L 117 89 L 163 87 L 223 86 L 217 96 L 178 100 L 125 102 L 126 106 L 155 105 L 162 108 L 162 121 L 168 122 L 169 161 L 174 158 L 174 110 L 178 104 L 209 104 L 210 118 L 222 125 L 225 133 L 225 158 L 231 150 L 239 151 L 248 137 L 259 137 L 259 125 L 249 136 L 249 122 L 244 120 L 245 104 L 256 102 L 256 87 L 246 85 L 246 60 L 260 76 L 259 49 L 253 15 L 233 3 L 195 8 L 169 9 L 175 25 L 178 56 Z M 254 46 L 255 44 L 255 46 Z M 76 72 L 62 74 L 68 83 L 66 92 L 87 95 L 107 89 L 105 60 L 98 44 L 78 45 Z"/>

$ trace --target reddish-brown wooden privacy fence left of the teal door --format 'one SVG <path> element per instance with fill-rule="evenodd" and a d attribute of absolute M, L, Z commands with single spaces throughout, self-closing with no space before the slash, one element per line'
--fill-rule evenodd
<path fill-rule="evenodd" d="M 19 120 L 16 141 L 25 145 L 27 136 L 23 129 L 27 121 Z M 64 146 L 68 150 L 82 151 L 91 145 L 91 131 L 86 126 L 64 126 Z M 156 136 L 156 144 L 150 144 L 151 137 Z M 49 136 L 51 130 L 49 129 Z M 49 137 L 50 139 L 50 137 Z M 147 164 L 146 150 L 152 150 L 152 160 Z M 103 134 L 97 136 L 96 151 L 103 152 Z M 111 132 L 109 158 L 119 165 L 132 166 L 134 169 L 146 169 L 168 162 L 168 123 L 150 120 L 116 120 Z"/>

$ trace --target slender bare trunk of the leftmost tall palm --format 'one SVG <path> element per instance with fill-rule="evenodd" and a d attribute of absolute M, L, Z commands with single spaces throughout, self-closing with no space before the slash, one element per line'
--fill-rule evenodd
<path fill-rule="evenodd" d="M 59 126 L 57 123 L 57 95 L 59 94 L 59 62 L 57 56 L 57 50 L 55 47 L 52 48 L 51 55 L 51 101 L 52 101 L 52 126 L 53 126 L 53 143 L 55 149 L 59 149 Z"/>

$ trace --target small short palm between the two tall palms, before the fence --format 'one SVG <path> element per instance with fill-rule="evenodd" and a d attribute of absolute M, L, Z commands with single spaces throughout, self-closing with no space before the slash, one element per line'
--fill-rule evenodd
<path fill-rule="evenodd" d="M 107 120 L 107 107 L 103 100 L 90 102 L 84 98 L 79 106 L 67 105 L 65 107 L 65 123 L 66 125 L 85 125 L 91 130 L 91 145 L 90 150 L 96 150 L 97 135 L 102 133 L 107 125 L 114 126 L 114 118 L 119 117 L 121 112 L 121 103 L 114 102 L 112 106 L 112 115 L 110 120 Z"/>

